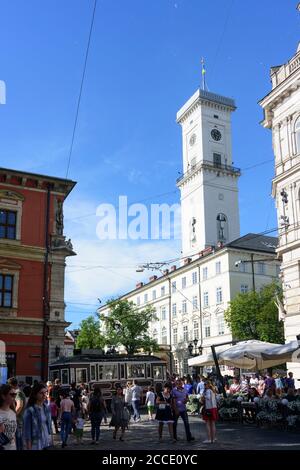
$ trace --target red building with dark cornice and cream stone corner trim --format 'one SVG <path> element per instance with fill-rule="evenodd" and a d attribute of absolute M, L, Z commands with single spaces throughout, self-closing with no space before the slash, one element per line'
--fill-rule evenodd
<path fill-rule="evenodd" d="M 75 182 L 0 168 L 0 340 L 9 376 L 46 379 L 65 342 L 63 203 Z"/>

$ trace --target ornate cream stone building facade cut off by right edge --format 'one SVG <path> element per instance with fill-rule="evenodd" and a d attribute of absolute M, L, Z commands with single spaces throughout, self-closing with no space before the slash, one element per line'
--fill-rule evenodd
<path fill-rule="evenodd" d="M 272 90 L 261 100 L 262 125 L 272 130 L 275 176 L 272 193 L 282 260 L 285 338 L 300 333 L 300 46 L 285 64 L 271 68 Z M 288 364 L 300 383 L 300 364 Z"/>

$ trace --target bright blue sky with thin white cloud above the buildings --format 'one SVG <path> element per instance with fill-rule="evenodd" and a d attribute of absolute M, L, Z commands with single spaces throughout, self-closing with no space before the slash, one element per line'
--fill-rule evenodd
<path fill-rule="evenodd" d="M 233 160 L 246 169 L 273 158 L 257 101 L 269 69 L 286 62 L 299 39 L 294 0 L 98 0 L 65 204 L 65 231 L 78 256 L 68 260 L 67 320 L 76 326 L 97 298 L 125 292 L 141 261 L 178 255 L 178 241 L 101 242 L 96 207 L 178 202 L 182 168 L 177 110 L 200 84 L 234 97 Z M 1 166 L 64 177 L 93 2 L 1 2 Z M 240 179 L 241 233 L 276 226 L 273 162 Z M 168 193 L 168 194 L 165 194 Z M 157 195 L 164 194 L 158 197 Z M 103 269 L 90 269 L 102 265 Z M 72 272 L 73 271 L 73 272 Z M 82 303 L 82 305 L 80 304 Z"/>

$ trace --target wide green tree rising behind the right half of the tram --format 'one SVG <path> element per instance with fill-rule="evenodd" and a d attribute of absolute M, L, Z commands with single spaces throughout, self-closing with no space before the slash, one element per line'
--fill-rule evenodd
<path fill-rule="evenodd" d="M 111 300 L 108 306 L 108 315 L 100 315 L 107 346 L 123 346 L 128 354 L 135 354 L 141 349 L 149 353 L 159 349 L 157 341 L 148 334 L 149 323 L 157 320 L 153 307 L 149 305 L 140 310 L 128 300 Z"/>

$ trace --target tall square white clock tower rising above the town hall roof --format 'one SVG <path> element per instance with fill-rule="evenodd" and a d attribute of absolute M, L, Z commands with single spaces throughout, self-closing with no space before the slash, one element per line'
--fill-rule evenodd
<path fill-rule="evenodd" d="M 240 236 L 238 177 L 231 149 L 234 100 L 199 89 L 177 113 L 182 127 L 182 253 L 192 256 L 208 246 Z"/>

